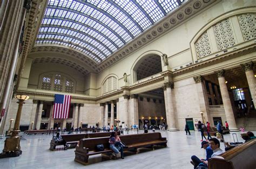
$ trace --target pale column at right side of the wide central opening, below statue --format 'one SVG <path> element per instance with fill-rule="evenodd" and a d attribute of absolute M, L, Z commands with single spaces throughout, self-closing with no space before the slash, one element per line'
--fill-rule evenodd
<path fill-rule="evenodd" d="M 177 128 L 177 121 L 173 109 L 173 96 L 172 96 L 172 89 L 174 87 L 172 82 L 167 82 L 164 83 L 165 89 L 166 89 L 166 98 L 167 98 L 167 109 L 166 109 L 166 120 L 167 120 L 167 125 L 168 125 L 168 130 L 169 131 L 178 131 L 179 129 Z"/>

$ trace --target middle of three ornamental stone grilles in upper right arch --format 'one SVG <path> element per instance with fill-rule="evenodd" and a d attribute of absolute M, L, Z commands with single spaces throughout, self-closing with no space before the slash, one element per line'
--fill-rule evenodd
<path fill-rule="evenodd" d="M 235 45 L 234 33 L 231 28 L 230 19 L 224 19 L 213 26 L 218 50 L 230 48 Z"/>

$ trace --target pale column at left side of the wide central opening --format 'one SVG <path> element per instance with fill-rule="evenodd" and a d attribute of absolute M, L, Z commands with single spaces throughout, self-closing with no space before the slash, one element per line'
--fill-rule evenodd
<path fill-rule="evenodd" d="M 130 100 L 130 121 L 131 124 L 139 125 L 139 105 L 138 105 L 138 94 L 131 94 L 131 100 Z"/>

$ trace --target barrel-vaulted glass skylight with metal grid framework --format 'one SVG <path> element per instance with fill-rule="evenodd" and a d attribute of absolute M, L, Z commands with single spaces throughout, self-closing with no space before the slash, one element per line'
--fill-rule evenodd
<path fill-rule="evenodd" d="M 36 44 L 69 46 L 100 63 L 183 1 L 49 0 Z"/>

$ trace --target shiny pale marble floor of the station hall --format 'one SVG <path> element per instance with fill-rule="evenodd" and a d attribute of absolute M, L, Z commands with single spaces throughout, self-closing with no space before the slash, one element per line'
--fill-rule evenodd
<path fill-rule="evenodd" d="M 139 131 L 143 133 L 143 131 Z M 152 132 L 152 131 L 149 131 Z M 100 155 L 90 156 L 89 165 L 82 165 L 74 161 L 74 148 L 50 151 L 49 135 L 23 136 L 21 139 L 22 155 L 13 158 L 0 159 L 0 168 L 193 168 L 190 164 L 192 155 L 199 158 L 205 157 L 205 151 L 201 149 L 200 132 L 192 131 L 191 136 L 186 136 L 184 131 L 161 132 L 162 137 L 168 140 L 168 147 L 158 148 L 153 151 L 142 151 L 139 154 L 126 154 L 125 159 L 109 160 Z M 129 132 L 129 134 L 137 132 Z M 240 132 L 237 133 L 239 141 L 242 141 Z M 254 132 L 256 134 L 256 132 Z M 232 141 L 232 134 L 224 135 L 225 141 Z M 0 139 L 0 150 L 3 150 L 4 140 Z M 224 149 L 224 144 L 221 143 Z"/>

